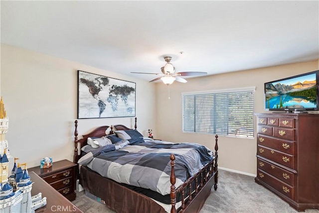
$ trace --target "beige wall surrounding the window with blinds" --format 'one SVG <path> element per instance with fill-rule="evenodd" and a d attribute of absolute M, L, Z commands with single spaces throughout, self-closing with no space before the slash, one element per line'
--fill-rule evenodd
<path fill-rule="evenodd" d="M 156 138 L 174 142 L 197 142 L 214 149 L 214 135 L 182 133 L 181 93 L 207 91 L 216 89 L 256 87 L 255 112 L 264 112 L 264 83 L 284 77 L 318 69 L 318 60 L 284 66 L 266 67 L 225 74 L 187 79 L 183 84 L 174 82 L 170 85 L 170 99 L 167 97 L 167 86 L 157 83 Z M 255 118 L 256 120 L 256 118 Z M 255 133 L 256 136 L 256 133 Z M 243 139 L 219 136 L 218 165 L 230 170 L 256 174 L 256 139 Z"/>

